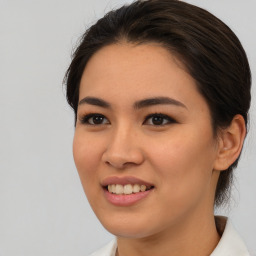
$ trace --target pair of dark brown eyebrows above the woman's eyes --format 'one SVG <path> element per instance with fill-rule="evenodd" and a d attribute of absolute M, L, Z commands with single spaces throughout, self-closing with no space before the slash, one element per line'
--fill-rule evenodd
<path fill-rule="evenodd" d="M 94 105 L 94 106 L 98 106 L 98 107 L 102 107 L 102 108 L 111 109 L 110 103 L 106 102 L 103 99 L 96 98 L 96 97 L 88 96 L 88 97 L 81 99 L 79 101 L 78 105 L 83 105 L 83 104 L 90 104 L 90 105 Z M 182 102 L 172 99 L 172 98 L 169 98 L 169 97 L 154 97 L 154 98 L 139 100 L 133 104 L 133 108 L 135 110 L 138 110 L 141 108 L 150 107 L 150 106 L 154 106 L 154 105 L 174 105 L 174 106 L 183 107 L 183 108 L 187 109 L 186 105 L 184 105 Z"/>

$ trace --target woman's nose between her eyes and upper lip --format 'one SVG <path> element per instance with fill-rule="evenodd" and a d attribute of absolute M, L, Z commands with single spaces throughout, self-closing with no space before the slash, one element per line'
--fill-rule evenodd
<path fill-rule="evenodd" d="M 132 129 L 122 127 L 112 131 L 102 160 L 115 169 L 125 169 L 143 163 L 144 156 L 136 133 Z"/>

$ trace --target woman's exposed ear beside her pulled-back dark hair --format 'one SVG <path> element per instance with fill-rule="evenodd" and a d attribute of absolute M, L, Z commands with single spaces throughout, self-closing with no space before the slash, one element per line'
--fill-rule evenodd
<path fill-rule="evenodd" d="M 244 118 L 241 115 L 234 116 L 231 124 L 219 132 L 215 170 L 226 170 L 235 162 L 242 150 L 245 135 Z"/>

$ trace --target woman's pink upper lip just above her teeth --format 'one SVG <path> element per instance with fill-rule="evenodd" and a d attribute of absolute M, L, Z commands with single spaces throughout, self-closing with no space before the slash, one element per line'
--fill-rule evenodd
<path fill-rule="evenodd" d="M 126 184 L 138 184 L 138 185 L 146 185 L 147 187 L 154 186 L 152 183 L 147 182 L 145 180 L 133 177 L 133 176 L 110 176 L 105 179 L 103 179 L 101 185 L 103 187 L 106 187 L 110 184 L 120 184 L 120 185 L 126 185 Z"/>

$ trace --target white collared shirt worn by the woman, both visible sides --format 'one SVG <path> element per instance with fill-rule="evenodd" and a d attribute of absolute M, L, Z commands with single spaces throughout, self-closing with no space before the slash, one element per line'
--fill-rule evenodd
<path fill-rule="evenodd" d="M 231 221 L 223 216 L 215 217 L 216 226 L 221 239 L 210 256 L 250 256 L 243 240 L 233 228 Z M 100 250 L 90 256 L 115 256 L 116 240 L 112 240 Z"/>

